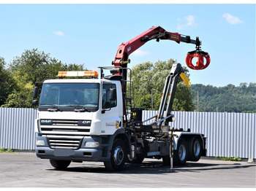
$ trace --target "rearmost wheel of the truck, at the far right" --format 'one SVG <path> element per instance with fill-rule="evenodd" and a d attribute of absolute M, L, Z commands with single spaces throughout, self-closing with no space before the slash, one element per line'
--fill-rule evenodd
<path fill-rule="evenodd" d="M 189 141 L 189 161 L 198 161 L 202 155 L 203 146 L 202 139 L 199 137 L 193 137 Z"/>

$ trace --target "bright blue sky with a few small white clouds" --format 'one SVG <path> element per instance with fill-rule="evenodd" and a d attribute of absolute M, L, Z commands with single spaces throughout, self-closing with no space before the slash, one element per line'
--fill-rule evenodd
<path fill-rule="evenodd" d="M 255 4 L 96 2 L 0 4 L 0 57 L 10 63 L 25 50 L 37 48 L 62 63 L 98 70 L 112 66 L 122 42 L 161 26 L 192 39 L 199 36 L 202 50 L 209 53 L 206 69 L 189 69 L 192 84 L 222 87 L 256 82 Z M 129 67 L 170 58 L 187 66 L 185 58 L 192 50 L 194 44 L 150 41 L 129 55 Z"/>

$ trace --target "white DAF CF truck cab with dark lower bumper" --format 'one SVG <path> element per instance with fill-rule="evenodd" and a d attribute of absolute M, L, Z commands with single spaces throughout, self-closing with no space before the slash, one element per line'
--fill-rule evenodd
<path fill-rule="evenodd" d="M 37 157 L 109 160 L 111 141 L 125 133 L 122 99 L 120 80 L 45 80 L 35 122 Z"/>

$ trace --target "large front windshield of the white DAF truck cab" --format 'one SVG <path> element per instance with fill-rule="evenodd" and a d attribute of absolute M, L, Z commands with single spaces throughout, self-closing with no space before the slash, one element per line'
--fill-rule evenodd
<path fill-rule="evenodd" d="M 39 107 L 99 107 L 98 83 L 48 83 L 42 85 Z"/>

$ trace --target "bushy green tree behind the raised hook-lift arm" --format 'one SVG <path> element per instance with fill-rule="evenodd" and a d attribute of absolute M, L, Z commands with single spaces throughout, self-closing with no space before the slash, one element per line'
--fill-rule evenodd
<path fill-rule="evenodd" d="M 157 61 L 156 63 L 145 62 L 132 67 L 132 82 L 135 90 L 135 106 L 145 109 L 157 110 L 162 98 L 162 90 L 165 85 L 167 74 L 173 66 L 173 59 L 168 61 Z M 187 73 L 187 69 L 184 68 Z M 153 101 L 153 102 L 152 102 Z M 192 102 L 192 93 L 184 85 L 181 79 L 178 79 L 175 99 L 173 101 L 173 110 L 192 111 L 194 104 Z"/>

